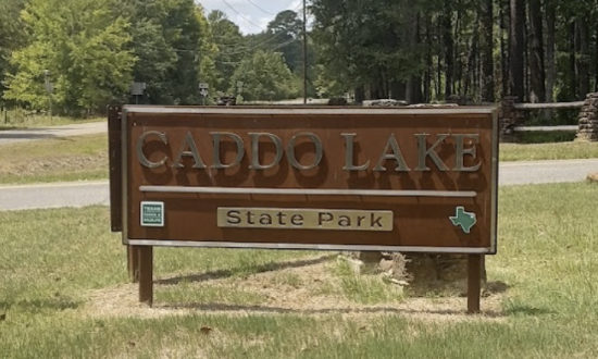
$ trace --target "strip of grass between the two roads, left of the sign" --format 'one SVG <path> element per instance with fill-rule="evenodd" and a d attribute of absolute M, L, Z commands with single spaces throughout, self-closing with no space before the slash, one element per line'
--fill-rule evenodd
<path fill-rule="evenodd" d="M 107 135 L 0 146 L 0 184 L 104 178 L 108 178 Z"/>

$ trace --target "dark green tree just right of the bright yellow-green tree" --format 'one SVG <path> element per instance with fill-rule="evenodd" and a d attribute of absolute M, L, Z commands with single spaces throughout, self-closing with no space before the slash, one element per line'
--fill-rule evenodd
<path fill-rule="evenodd" d="M 146 83 L 145 101 L 198 103 L 202 9 L 192 0 L 127 0 L 120 7 L 130 14 L 130 47 L 138 59 L 133 78 Z"/>

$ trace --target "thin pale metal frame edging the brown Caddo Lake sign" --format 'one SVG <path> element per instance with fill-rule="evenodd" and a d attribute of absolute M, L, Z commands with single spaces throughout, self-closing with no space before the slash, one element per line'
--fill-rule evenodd
<path fill-rule="evenodd" d="M 128 150 L 127 128 L 129 112 L 133 113 L 160 113 L 160 114 L 485 114 L 491 115 L 491 218 L 490 218 L 490 247 L 419 247 L 419 246 L 375 246 L 375 245 L 334 245 L 334 244 L 297 244 L 297 243 L 245 243 L 245 242 L 222 242 L 222 240 L 205 240 L 205 242 L 187 242 L 187 240 L 155 240 L 155 239 L 133 239 L 128 237 Z M 342 119 L 339 119 L 342 121 Z M 121 148 L 122 168 L 121 168 L 121 186 L 122 186 L 122 235 L 123 244 L 129 246 L 164 246 L 164 247 L 199 247 L 199 248 L 257 248 L 257 249 L 308 249 L 308 250 L 372 250 L 372 251 L 400 251 L 400 252 L 429 252 L 429 253 L 469 253 L 469 255 L 495 255 L 497 250 L 497 197 L 498 197 L 498 116 L 495 108 L 489 107 L 459 107 L 459 108 L 400 108 L 400 109 L 371 109 L 371 108 L 186 108 L 186 107 L 148 107 L 148 106 L 125 106 L 122 109 L 121 115 Z M 244 188 L 247 190 L 248 188 Z M 258 188 L 259 189 L 259 188 Z M 328 190 L 329 193 L 329 190 Z M 389 195 L 390 191 L 388 191 Z M 346 190 L 339 190 L 340 196 L 346 194 Z M 334 195 L 334 193 L 333 193 Z M 422 193 L 414 191 L 413 196 L 421 196 Z M 165 209 L 167 211 L 167 208 Z M 448 221 L 448 220 L 447 220 Z"/>

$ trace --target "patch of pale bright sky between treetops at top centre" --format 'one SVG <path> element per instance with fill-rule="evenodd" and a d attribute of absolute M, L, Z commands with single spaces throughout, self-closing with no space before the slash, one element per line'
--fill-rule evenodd
<path fill-rule="evenodd" d="M 257 34 L 264 30 L 267 23 L 283 10 L 299 12 L 302 0 L 197 0 L 205 9 L 221 10 L 237 24 L 242 34 Z"/>

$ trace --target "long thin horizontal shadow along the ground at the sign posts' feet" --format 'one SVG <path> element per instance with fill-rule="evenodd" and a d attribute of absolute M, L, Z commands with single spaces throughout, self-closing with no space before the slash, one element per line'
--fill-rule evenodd
<path fill-rule="evenodd" d="M 411 309 L 411 308 L 394 308 L 394 307 L 370 307 L 370 308 L 320 308 L 320 309 L 291 309 L 267 306 L 239 306 L 239 305 L 223 305 L 223 304 L 169 304 L 154 306 L 154 308 L 163 309 L 194 309 L 202 311 L 224 311 L 224 312 L 254 312 L 254 313 L 276 313 L 276 314 L 439 314 L 439 315 L 464 315 L 465 309 Z M 482 317 L 487 318 L 503 318 L 506 313 L 494 310 L 483 311 Z"/>

